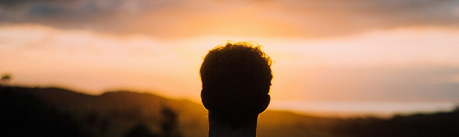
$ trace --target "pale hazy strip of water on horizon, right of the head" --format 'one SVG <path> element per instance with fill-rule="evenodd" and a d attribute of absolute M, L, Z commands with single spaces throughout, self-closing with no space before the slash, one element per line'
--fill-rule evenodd
<path fill-rule="evenodd" d="M 321 116 L 392 116 L 394 114 L 451 111 L 457 102 L 403 101 L 272 101 L 271 110 L 295 111 Z"/>

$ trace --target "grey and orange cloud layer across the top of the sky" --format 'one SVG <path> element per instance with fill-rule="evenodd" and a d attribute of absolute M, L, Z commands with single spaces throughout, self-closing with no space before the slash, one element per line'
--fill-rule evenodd
<path fill-rule="evenodd" d="M 6 0 L 1 22 L 156 37 L 330 37 L 459 26 L 457 0 Z"/>

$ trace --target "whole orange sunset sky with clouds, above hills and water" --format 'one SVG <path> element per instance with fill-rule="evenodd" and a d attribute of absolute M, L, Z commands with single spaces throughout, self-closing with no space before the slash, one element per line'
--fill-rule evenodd
<path fill-rule="evenodd" d="M 457 0 L 0 1 L 13 85 L 199 102 L 202 58 L 227 40 L 263 45 L 273 102 L 459 104 Z"/>

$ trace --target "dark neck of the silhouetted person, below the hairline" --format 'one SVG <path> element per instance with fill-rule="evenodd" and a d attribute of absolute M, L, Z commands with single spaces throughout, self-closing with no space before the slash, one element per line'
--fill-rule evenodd
<path fill-rule="evenodd" d="M 232 129 L 209 117 L 209 137 L 256 137 L 257 117 L 251 119 L 247 124 Z"/>

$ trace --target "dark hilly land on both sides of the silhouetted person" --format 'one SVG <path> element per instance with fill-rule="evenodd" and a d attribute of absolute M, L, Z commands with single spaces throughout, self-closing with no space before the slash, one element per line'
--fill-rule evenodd
<path fill-rule="evenodd" d="M 206 137 L 201 104 L 128 91 L 85 95 L 0 87 L 4 137 Z M 459 137 L 459 109 L 389 119 L 321 118 L 266 111 L 258 137 Z"/>

